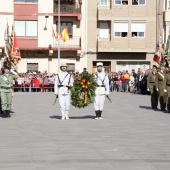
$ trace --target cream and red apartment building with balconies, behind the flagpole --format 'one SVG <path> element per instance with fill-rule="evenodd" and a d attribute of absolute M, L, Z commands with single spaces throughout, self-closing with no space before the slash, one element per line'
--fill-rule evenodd
<path fill-rule="evenodd" d="M 3 2 L 2 2 L 3 1 Z M 87 65 L 82 55 L 85 42 L 81 0 L 60 0 L 60 27 L 68 28 L 69 39 L 60 40 L 60 63 L 68 64 L 69 71 L 83 71 Z M 21 50 L 22 60 L 18 72 L 58 71 L 58 39 L 52 36 L 52 27 L 57 31 L 58 0 L 1 0 L 0 5 L 0 58 L 4 56 L 4 30 L 14 25 Z"/>

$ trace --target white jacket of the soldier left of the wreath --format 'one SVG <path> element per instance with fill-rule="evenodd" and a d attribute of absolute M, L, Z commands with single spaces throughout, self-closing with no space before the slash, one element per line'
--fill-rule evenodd
<path fill-rule="evenodd" d="M 74 83 L 73 77 L 68 72 L 59 73 L 58 75 L 55 76 L 54 93 L 70 94 L 70 90 L 66 86 L 73 86 L 73 83 Z"/>

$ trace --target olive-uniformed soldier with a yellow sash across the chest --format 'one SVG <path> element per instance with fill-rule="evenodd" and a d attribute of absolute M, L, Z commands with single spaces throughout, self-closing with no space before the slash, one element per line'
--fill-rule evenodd
<path fill-rule="evenodd" d="M 164 93 L 164 79 L 165 79 L 165 67 L 163 64 L 160 65 L 160 71 L 156 74 L 156 90 L 158 91 L 159 102 L 161 111 L 165 111 L 166 108 L 166 97 Z"/>

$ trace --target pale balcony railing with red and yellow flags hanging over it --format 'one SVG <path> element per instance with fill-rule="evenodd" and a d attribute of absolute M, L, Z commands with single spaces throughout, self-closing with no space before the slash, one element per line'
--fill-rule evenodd
<path fill-rule="evenodd" d="M 58 39 L 54 38 L 53 47 L 58 47 Z M 80 48 L 81 47 L 81 38 L 80 37 L 72 37 L 69 38 L 66 42 L 60 40 L 61 48 Z"/>

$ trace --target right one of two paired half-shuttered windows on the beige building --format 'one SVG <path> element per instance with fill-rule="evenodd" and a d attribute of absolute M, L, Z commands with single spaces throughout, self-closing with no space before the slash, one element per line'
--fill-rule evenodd
<path fill-rule="evenodd" d="M 132 23 L 131 24 L 131 36 L 132 37 L 145 37 L 145 25 L 146 23 Z"/>

